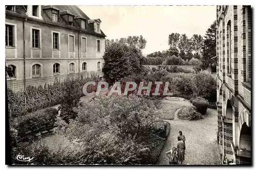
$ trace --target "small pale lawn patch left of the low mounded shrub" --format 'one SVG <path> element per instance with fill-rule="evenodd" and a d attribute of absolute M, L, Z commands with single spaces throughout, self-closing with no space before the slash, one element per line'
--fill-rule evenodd
<path fill-rule="evenodd" d="M 177 109 L 184 107 L 184 106 L 190 106 L 191 103 L 189 100 L 185 101 L 169 101 L 165 98 L 162 100 L 162 109 L 165 109 L 166 111 L 162 112 L 160 115 L 161 119 L 165 120 L 173 120 L 174 119 L 174 113 Z"/>

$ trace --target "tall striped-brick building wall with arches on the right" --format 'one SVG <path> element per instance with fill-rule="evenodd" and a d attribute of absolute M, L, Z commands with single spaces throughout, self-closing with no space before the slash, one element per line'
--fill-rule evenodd
<path fill-rule="evenodd" d="M 224 159 L 251 163 L 251 7 L 217 6 L 218 142 Z"/>

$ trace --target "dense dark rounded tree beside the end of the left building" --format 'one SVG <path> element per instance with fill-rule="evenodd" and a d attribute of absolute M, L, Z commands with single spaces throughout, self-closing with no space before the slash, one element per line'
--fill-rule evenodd
<path fill-rule="evenodd" d="M 104 78 L 113 83 L 128 75 L 139 74 L 143 70 L 142 49 L 146 46 L 143 36 L 129 36 L 119 40 L 106 40 L 105 61 L 102 68 Z"/>

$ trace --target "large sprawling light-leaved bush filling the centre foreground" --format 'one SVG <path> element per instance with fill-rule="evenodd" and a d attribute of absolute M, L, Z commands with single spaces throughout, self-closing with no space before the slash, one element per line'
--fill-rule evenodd
<path fill-rule="evenodd" d="M 163 140 L 158 135 L 163 136 L 165 128 L 153 101 L 137 96 L 99 96 L 75 111 L 77 118 L 58 133 L 82 144 L 76 163 L 152 163 L 152 150 Z"/>

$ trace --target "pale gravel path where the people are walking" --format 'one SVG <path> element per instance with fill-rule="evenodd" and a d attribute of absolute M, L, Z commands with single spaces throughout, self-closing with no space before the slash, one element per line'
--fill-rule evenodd
<path fill-rule="evenodd" d="M 176 102 L 172 101 L 172 105 Z M 182 102 L 177 102 L 181 104 Z M 165 102 L 164 105 L 171 103 Z M 191 105 L 183 101 L 183 105 Z M 179 109 L 178 109 L 179 110 Z M 177 144 L 178 131 L 181 130 L 186 137 L 185 161 L 183 164 L 218 164 L 217 145 L 217 110 L 207 109 L 204 119 L 197 121 L 181 120 L 175 112 L 174 120 L 165 120 L 170 123 L 170 133 L 161 152 L 157 164 L 168 164 L 165 152 Z"/>

